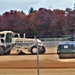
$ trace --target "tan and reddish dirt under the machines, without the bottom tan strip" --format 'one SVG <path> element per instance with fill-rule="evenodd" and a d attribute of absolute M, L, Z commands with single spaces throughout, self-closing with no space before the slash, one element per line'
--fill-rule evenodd
<path fill-rule="evenodd" d="M 47 48 L 45 54 L 39 55 L 39 66 L 40 69 L 75 68 L 75 59 L 59 59 L 56 48 Z M 37 69 L 37 55 L 17 55 L 12 51 L 0 56 L 0 69 Z"/>

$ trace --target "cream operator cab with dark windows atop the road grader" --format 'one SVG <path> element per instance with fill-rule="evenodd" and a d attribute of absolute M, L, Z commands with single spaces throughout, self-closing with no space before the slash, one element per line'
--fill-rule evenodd
<path fill-rule="evenodd" d="M 0 42 L 1 43 L 11 43 L 12 38 L 20 37 L 18 33 L 14 33 L 12 31 L 2 31 L 0 32 Z"/>

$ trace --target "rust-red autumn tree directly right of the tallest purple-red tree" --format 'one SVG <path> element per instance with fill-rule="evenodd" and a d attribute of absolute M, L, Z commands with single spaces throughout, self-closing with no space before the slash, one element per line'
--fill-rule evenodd
<path fill-rule="evenodd" d="M 65 25 L 65 12 L 63 10 L 53 10 L 54 18 L 52 20 L 51 27 L 53 29 L 53 35 L 63 35 Z"/>

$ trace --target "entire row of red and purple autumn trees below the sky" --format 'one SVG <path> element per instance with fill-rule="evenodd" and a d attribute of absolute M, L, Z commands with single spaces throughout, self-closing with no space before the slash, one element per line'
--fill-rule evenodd
<path fill-rule="evenodd" d="M 75 28 L 75 10 L 70 8 L 66 10 L 31 8 L 27 15 L 23 11 L 10 10 L 0 15 L 0 31 L 11 30 L 31 37 L 68 35 L 69 28 Z"/>

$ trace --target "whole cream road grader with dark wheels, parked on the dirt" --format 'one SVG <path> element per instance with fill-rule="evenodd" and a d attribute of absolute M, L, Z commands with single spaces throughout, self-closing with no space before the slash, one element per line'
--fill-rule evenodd
<path fill-rule="evenodd" d="M 45 53 L 45 47 L 41 40 L 37 39 L 39 54 Z M 15 48 L 20 52 L 20 48 L 27 49 L 31 54 L 37 54 L 36 40 L 25 38 L 20 38 L 19 33 L 14 33 L 12 31 L 1 31 L 0 32 L 0 55 L 9 55 L 12 48 Z"/>

